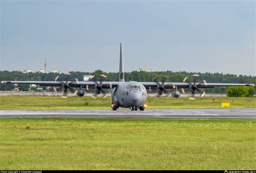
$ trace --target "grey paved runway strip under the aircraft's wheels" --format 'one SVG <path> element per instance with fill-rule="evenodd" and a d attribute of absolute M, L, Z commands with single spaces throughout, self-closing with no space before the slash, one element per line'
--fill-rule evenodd
<path fill-rule="evenodd" d="M 1 118 L 256 119 L 256 109 L 0 110 Z"/>

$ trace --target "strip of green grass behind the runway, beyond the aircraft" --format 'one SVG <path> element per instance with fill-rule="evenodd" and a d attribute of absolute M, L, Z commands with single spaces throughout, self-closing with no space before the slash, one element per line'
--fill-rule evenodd
<path fill-rule="evenodd" d="M 220 108 L 221 102 L 230 102 L 231 108 L 256 108 L 256 98 L 188 98 L 173 99 L 171 97 L 147 98 L 149 109 L 169 108 Z M 0 96 L 1 110 L 49 110 L 49 109 L 110 109 L 111 97 L 93 99 L 39 95 Z"/>

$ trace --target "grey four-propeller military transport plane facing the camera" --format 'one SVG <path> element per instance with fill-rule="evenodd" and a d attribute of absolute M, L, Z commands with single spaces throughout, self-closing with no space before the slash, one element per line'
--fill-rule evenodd
<path fill-rule="evenodd" d="M 95 76 L 92 76 L 92 78 Z M 105 75 L 102 75 L 106 78 Z M 198 74 L 193 75 L 194 79 L 198 77 Z M 206 83 L 204 80 L 202 83 L 196 82 L 186 82 L 187 78 L 183 82 L 158 82 L 156 78 L 153 82 L 136 82 L 124 80 L 124 66 L 123 66 L 123 47 L 120 44 L 120 63 L 119 63 L 119 81 L 2 81 L 2 83 L 9 84 L 35 84 L 40 86 L 52 86 L 52 87 L 62 87 L 64 91 L 64 96 L 68 92 L 68 89 L 72 91 L 73 87 L 80 88 L 77 92 L 78 96 L 84 96 L 84 91 L 82 88 L 95 88 L 95 94 L 105 93 L 103 89 L 110 88 L 112 103 L 112 110 L 117 110 L 119 107 L 130 108 L 131 110 L 144 110 L 146 108 L 147 100 L 147 90 L 146 89 L 157 89 L 158 94 L 162 95 L 163 92 L 167 93 L 166 89 L 173 89 L 171 93 L 173 98 L 179 98 L 180 92 L 178 88 L 184 93 L 183 88 L 189 88 L 191 91 L 191 98 L 195 98 L 195 94 L 198 91 L 200 96 L 204 96 L 205 92 L 201 92 L 199 88 L 213 88 L 218 86 L 254 86 L 253 84 L 223 84 L 223 83 Z"/>

